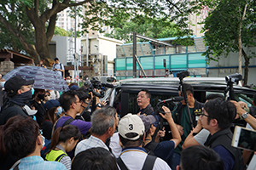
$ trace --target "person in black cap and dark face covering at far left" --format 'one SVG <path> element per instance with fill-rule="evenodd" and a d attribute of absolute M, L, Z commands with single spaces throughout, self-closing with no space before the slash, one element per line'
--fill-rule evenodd
<path fill-rule="evenodd" d="M 32 99 L 33 83 L 34 80 L 26 80 L 20 76 L 11 77 L 5 82 L 4 88 L 9 100 L 1 108 L 0 125 L 16 115 L 30 116 L 24 107 Z"/>

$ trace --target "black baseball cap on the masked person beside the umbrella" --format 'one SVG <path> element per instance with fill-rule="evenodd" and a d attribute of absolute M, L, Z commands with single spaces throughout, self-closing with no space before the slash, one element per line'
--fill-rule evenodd
<path fill-rule="evenodd" d="M 4 88 L 8 94 L 16 94 L 21 86 L 31 85 L 33 83 L 34 80 L 26 80 L 20 76 L 15 76 L 4 83 Z"/>

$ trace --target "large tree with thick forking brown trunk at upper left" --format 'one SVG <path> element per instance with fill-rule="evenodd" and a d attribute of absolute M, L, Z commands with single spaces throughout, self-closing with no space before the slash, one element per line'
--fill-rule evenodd
<path fill-rule="evenodd" d="M 88 3 L 90 0 L 74 3 L 71 0 L 5 0 L 1 1 L 0 22 L 10 34 L 19 40 L 35 63 L 38 59 L 49 59 L 49 42 L 54 35 L 57 14 L 62 10 Z M 47 4 L 51 4 L 51 8 Z M 47 25 L 47 28 L 45 28 Z M 33 29 L 33 36 L 24 29 Z"/>

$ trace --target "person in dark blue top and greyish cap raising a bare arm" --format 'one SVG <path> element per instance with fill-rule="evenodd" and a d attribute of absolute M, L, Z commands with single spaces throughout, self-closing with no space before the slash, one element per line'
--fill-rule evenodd
<path fill-rule="evenodd" d="M 174 149 L 177 147 L 177 144 L 179 144 L 181 141 L 181 137 L 177 130 L 177 126 L 172 119 L 171 111 L 166 106 L 162 106 L 162 109 L 163 111 L 166 112 L 166 114 L 163 115 L 162 113 L 160 113 L 160 116 L 166 119 L 169 126 L 171 127 L 172 139 L 162 141 L 160 143 L 153 142 L 152 136 L 154 135 L 154 130 L 155 130 L 153 123 L 155 122 L 155 118 L 152 115 L 149 115 L 149 116 L 140 115 L 141 119 L 143 120 L 143 123 L 145 126 L 145 132 L 146 132 L 146 139 L 144 141 L 143 147 L 148 151 L 148 154 L 160 157 L 161 159 L 169 163 L 172 157 L 172 154 L 174 152 Z M 157 137 L 160 137 L 159 133 Z"/>

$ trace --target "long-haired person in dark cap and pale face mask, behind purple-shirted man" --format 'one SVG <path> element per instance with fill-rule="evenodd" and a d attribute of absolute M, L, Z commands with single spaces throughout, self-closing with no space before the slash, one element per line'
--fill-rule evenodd
<path fill-rule="evenodd" d="M 62 108 L 58 100 L 50 99 L 44 104 L 46 110 L 41 129 L 45 139 L 51 139 L 52 128 L 62 114 Z"/>

